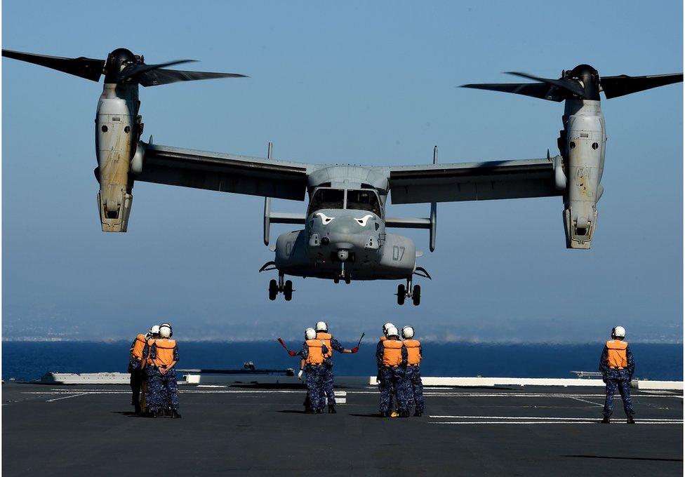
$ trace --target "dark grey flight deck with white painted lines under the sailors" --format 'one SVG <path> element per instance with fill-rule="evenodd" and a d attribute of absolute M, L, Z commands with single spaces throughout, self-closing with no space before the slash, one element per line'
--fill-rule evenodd
<path fill-rule="evenodd" d="M 373 387 L 336 390 L 337 415 L 302 414 L 293 387 L 180 388 L 182 419 L 149 419 L 126 386 L 3 384 L 3 475 L 683 473 L 683 399 L 670 391 L 635 391 L 629 426 L 620 401 L 599 424 L 597 388 L 426 388 L 425 415 L 406 419 L 376 417 Z"/>

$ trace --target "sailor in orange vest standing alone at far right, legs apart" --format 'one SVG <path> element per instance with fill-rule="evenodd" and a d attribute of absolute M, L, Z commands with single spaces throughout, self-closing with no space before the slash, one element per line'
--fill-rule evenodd
<path fill-rule="evenodd" d="M 616 389 L 623 399 L 623 410 L 628 424 L 635 424 L 633 415 L 635 410 L 630 401 L 630 382 L 635 370 L 635 361 L 625 342 L 625 328 L 616 326 L 611 330 L 611 340 L 606 342 L 599 358 L 599 371 L 606 383 L 606 400 L 604 401 L 603 424 L 609 424 L 613 412 L 613 395 Z"/>

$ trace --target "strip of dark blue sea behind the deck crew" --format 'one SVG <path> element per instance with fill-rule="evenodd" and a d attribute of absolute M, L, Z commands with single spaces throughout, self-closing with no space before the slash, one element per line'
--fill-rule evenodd
<path fill-rule="evenodd" d="M 288 343 L 293 349 L 298 344 Z M 301 345 L 301 343 L 299 344 Z M 352 347 L 354 344 L 346 344 Z M 335 354 L 340 376 L 375 375 L 375 342 L 363 342 L 358 354 Z M 46 372 L 126 372 L 131 342 L 3 342 L 2 378 L 40 379 Z M 178 368 L 240 369 L 252 361 L 258 369 L 298 368 L 276 340 L 269 342 L 178 342 Z M 424 376 L 575 377 L 572 370 L 596 371 L 603 344 L 423 343 Z M 681 344 L 630 344 L 635 376 L 683 379 Z"/>

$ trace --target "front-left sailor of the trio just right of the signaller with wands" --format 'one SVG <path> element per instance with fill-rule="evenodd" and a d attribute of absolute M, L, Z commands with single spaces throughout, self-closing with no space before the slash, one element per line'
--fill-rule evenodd
<path fill-rule="evenodd" d="M 395 399 L 400 417 L 408 417 L 406 365 L 407 349 L 399 340 L 397 328 L 391 326 L 387 330 L 387 339 L 380 343 L 380 349 L 375 355 L 380 376 L 380 415 L 390 416 L 390 401 L 394 389 Z"/>

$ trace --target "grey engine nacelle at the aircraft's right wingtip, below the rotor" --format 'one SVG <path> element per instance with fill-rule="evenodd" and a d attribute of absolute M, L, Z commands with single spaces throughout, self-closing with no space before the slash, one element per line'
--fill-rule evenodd
<path fill-rule="evenodd" d="M 599 102 L 573 102 L 582 104 L 568 116 L 566 128 L 568 184 L 564 200 L 564 229 L 567 248 L 587 249 L 592 245 L 592 236 L 597 228 L 597 201 L 601 195 L 599 182 L 604 170 L 606 137 Z"/>

